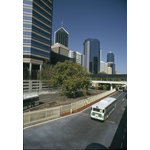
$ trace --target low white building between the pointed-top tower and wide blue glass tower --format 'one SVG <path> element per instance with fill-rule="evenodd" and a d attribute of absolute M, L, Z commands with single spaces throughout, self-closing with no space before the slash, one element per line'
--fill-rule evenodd
<path fill-rule="evenodd" d="M 80 52 L 75 52 L 69 50 L 69 57 L 74 58 L 77 63 L 82 64 L 82 54 Z"/>

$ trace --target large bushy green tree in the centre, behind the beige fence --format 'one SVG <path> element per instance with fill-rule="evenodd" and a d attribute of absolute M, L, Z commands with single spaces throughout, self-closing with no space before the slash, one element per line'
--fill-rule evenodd
<path fill-rule="evenodd" d="M 56 74 L 53 76 L 53 83 L 62 86 L 62 92 L 65 95 L 73 94 L 77 90 L 85 88 L 86 90 L 91 84 L 86 68 L 78 63 L 66 60 L 56 64 Z"/>

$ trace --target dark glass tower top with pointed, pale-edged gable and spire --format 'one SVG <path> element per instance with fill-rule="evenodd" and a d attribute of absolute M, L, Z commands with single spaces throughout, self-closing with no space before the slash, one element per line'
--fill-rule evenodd
<path fill-rule="evenodd" d="M 68 47 L 69 42 L 69 33 L 63 28 L 59 28 L 57 31 L 55 31 L 54 34 L 54 43 L 60 43 L 66 47 Z"/>

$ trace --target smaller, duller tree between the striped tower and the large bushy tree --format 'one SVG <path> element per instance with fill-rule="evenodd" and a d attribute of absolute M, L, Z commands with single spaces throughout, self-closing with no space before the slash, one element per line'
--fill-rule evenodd
<path fill-rule="evenodd" d="M 52 77 L 55 73 L 55 67 L 48 65 L 46 61 L 42 66 L 42 70 L 38 72 L 38 79 L 41 80 L 42 83 L 45 83 L 48 86 L 48 89 L 50 89 L 50 86 L 53 84 Z"/>

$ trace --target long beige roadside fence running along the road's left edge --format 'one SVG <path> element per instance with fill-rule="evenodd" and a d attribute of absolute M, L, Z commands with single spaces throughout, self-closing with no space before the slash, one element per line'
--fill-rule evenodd
<path fill-rule="evenodd" d="M 61 106 L 54 107 L 54 108 L 47 108 L 47 109 L 43 109 L 43 110 L 39 110 L 39 111 L 23 113 L 23 125 L 57 118 L 57 117 L 60 117 L 61 114 L 64 114 L 64 113 L 72 113 L 72 111 L 75 111 L 87 104 L 90 104 L 100 98 L 103 98 L 103 97 L 113 93 L 114 91 L 116 91 L 116 90 L 113 89 L 110 91 L 106 91 L 104 93 L 101 93 L 101 94 L 98 94 L 98 95 L 95 95 L 95 96 L 89 97 L 87 99 L 83 99 L 81 101 L 71 103 L 68 105 L 61 105 Z"/>

